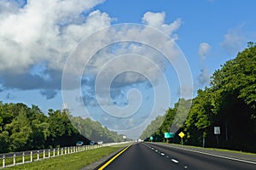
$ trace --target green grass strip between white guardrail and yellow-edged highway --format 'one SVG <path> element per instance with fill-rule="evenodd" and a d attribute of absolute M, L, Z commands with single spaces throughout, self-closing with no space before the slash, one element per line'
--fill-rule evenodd
<path fill-rule="evenodd" d="M 95 150 L 85 150 L 78 153 L 73 153 L 69 155 L 56 156 L 49 159 L 44 159 L 41 161 L 33 161 L 31 163 L 26 163 L 18 165 L 15 167 L 7 167 L 4 169 L 81 169 L 90 163 L 101 159 L 103 156 L 108 156 L 113 151 L 119 150 L 123 146 L 107 146 Z"/>

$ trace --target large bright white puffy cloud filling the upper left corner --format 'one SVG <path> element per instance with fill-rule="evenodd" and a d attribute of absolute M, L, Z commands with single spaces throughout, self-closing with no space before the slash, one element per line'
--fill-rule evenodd
<path fill-rule="evenodd" d="M 19 10 L 18 3 L 4 1 L 0 8 L 0 71 L 24 72 L 31 65 L 47 60 L 60 69 L 78 37 L 109 26 L 108 14 L 90 12 L 102 0 L 31 0 Z M 56 68 L 57 67 L 57 68 Z"/>

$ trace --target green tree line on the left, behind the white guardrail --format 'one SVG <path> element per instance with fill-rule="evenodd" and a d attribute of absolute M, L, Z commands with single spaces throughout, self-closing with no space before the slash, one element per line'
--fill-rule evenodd
<path fill-rule="evenodd" d="M 21 103 L 0 102 L 0 153 L 69 146 L 79 140 L 89 144 L 92 135 L 106 142 L 122 139 L 122 135 L 110 132 L 99 122 L 72 117 L 67 110 L 49 109 L 48 115 L 45 116 L 36 105 L 30 108 Z M 79 123 L 79 130 L 70 120 Z"/>

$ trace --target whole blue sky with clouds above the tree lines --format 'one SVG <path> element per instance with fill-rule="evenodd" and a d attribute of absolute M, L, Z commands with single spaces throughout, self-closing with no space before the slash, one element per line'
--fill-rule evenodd
<path fill-rule="evenodd" d="M 136 139 L 255 42 L 256 2 L 1 0 L 0 101 Z M 185 119 L 185 117 L 184 117 Z"/>

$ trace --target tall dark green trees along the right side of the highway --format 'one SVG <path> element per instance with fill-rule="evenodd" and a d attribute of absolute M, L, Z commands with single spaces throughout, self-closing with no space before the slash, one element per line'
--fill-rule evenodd
<path fill-rule="evenodd" d="M 178 132 L 183 131 L 185 144 L 221 147 L 256 152 L 256 47 L 252 46 L 227 61 L 212 75 L 211 84 L 198 90 L 189 115 Z M 154 136 L 164 141 L 177 107 L 170 108 Z M 171 117 L 171 118 L 170 118 Z M 164 123 L 163 123 L 164 124 Z M 220 127 L 220 134 L 213 133 Z M 176 134 L 177 134 L 176 133 Z M 178 136 L 174 142 L 179 141 Z"/>

